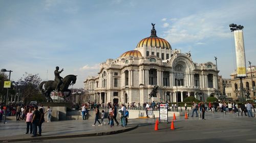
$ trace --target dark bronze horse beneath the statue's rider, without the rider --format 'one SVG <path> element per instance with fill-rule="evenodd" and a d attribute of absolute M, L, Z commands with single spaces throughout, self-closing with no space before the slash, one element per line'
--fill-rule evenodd
<path fill-rule="evenodd" d="M 76 76 L 77 75 L 67 75 L 62 80 L 63 83 L 60 85 L 59 89 L 65 101 L 67 101 L 66 98 L 69 97 L 71 94 L 71 90 L 68 89 L 69 86 L 76 83 Z M 39 90 L 47 97 L 48 102 L 53 102 L 50 94 L 52 91 L 56 89 L 56 86 L 57 86 L 57 82 L 54 80 L 42 81 L 39 84 Z M 65 96 L 64 92 L 69 92 L 69 94 Z"/>

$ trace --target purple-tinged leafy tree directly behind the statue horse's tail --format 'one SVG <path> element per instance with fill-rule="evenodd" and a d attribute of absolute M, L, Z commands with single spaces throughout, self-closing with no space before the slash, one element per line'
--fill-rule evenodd
<path fill-rule="evenodd" d="M 26 72 L 23 76 L 23 78 L 18 80 L 18 83 L 20 92 L 24 98 L 24 104 L 27 105 L 32 100 L 38 100 L 39 102 L 45 101 L 46 99 L 42 99 L 38 88 L 38 85 L 41 82 L 41 78 L 38 74 L 28 74 Z"/>

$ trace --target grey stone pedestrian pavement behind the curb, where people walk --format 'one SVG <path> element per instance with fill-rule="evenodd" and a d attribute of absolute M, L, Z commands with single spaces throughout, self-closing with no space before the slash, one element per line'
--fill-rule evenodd
<path fill-rule="evenodd" d="M 191 111 L 189 112 L 189 116 L 191 116 Z M 189 119 L 184 119 L 184 116 L 176 117 L 175 127 L 179 130 L 185 129 L 195 129 L 198 127 L 207 128 L 209 126 L 215 126 L 216 123 L 222 123 L 223 125 L 228 126 L 232 125 L 235 126 L 239 124 L 241 121 L 246 125 L 253 123 L 256 118 L 248 118 L 245 116 L 237 117 L 236 114 L 228 112 L 226 115 L 222 112 L 206 112 L 204 121 L 205 125 L 202 126 L 201 119 L 194 117 L 189 117 Z M 104 119 L 108 123 L 108 119 Z M 125 131 L 130 131 L 138 127 L 145 130 L 147 129 L 146 126 L 152 128 L 154 130 L 154 125 L 156 119 L 130 119 L 128 126 L 126 128 L 119 126 L 115 126 L 113 128 L 109 127 L 108 125 L 92 126 L 94 120 L 70 120 L 70 121 L 57 121 L 51 123 L 43 123 L 42 124 L 42 136 L 32 138 L 32 134 L 25 134 L 26 132 L 26 123 L 24 121 L 14 121 L 14 120 L 7 120 L 7 123 L 0 123 L 0 142 L 9 142 L 9 141 L 25 141 L 25 140 L 40 140 L 40 139 L 54 139 L 54 138 L 68 138 L 68 137 L 85 137 L 85 136 L 98 136 L 98 135 L 108 135 L 108 134 L 115 134 L 121 133 Z M 169 118 L 169 122 L 172 121 L 172 118 Z M 236 121 L 236 123 L 234 123 Z M 246 121 L 246 122 L 244 122 Z M 247 122 L 248 121 L 248 122 Z M 166 122 L 166 121 L 165 121 Z M 230 124 L 230 122 L 234 124 Z M 214 124 L 209 124 L 214 123 Z M 241 122 L 242 123 L 242 122 Z M 161 126 L 163 126 L 162 124 Z M 198 126 L 201 125 L 201 126 Z M 168 129 L 169 125 L 164 125 L 164 128 Z M 184 127 L 184 128 L 183 128 Z M 161 128 L 161 127 L 160 127 Z M 163 128 L 162 128 L 163 129 Z M 161 130 L 161 129 L 160 129 Z"/>

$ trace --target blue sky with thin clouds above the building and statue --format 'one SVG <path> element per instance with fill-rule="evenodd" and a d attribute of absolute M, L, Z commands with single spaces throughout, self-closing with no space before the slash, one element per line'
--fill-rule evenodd
<path fill-rule="evenodd" d="M 172 49 L 191 51 L 195 63 L 217 56 L 219 75 L 230 78 L 236 52 L 229 24 L 244 26 L 246 64 L 256 65 L 256 1 L 3 1 L 0 0 L 0 69 L 17 81 L 27 72 L 54 80 L 56 66 L 78 75 L 73 88 L 96 76 L 99 64 L 116 59 L 150 36 Z M 8 74 L 8 73 L 7 73 Z"/>

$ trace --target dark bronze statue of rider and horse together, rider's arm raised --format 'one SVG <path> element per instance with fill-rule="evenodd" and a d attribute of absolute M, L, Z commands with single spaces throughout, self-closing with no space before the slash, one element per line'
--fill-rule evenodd
<path fill-rule="evenodd" d="M 58 94 L 63 96 L 65 101 L 68 101 L 68 97 L 71 95 L 71 90 L 68 88 L 70 85 L 74 85 L 76 83 L 77 75 L 67 75 L 66 77 L 62 78 L 59 74 L 63 71 L 63 69 L 60 71 L 58 70 L 59 67 L 56 67 L 56 70 L 54 71 L 54 80 L 42 81 L 39 84 L 39 89 L 47 97 L 48 102 L 53 102 L 50 96 L 52 91 L 58 92 Z M 69 94 L 65 96 L 64 92 L 69 92 Z"/>

